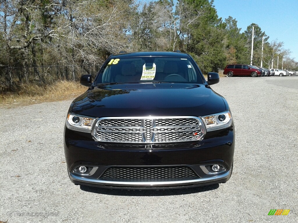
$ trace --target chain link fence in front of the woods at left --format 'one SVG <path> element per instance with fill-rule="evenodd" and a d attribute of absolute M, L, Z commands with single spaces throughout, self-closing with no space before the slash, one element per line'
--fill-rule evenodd
<path fill-rule="evenodd" d="M 50 65 L 0 68 L 0 91 L 16 82 L 47 84 L 55 81 L 78 81 L 83 74 L 91 74 L 94 79 L 100 67 L 101 65 Z"/>

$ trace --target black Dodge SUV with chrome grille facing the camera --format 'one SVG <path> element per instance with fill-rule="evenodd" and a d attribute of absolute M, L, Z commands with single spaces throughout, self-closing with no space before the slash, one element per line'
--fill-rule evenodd
<path fill-rule="evenodd" d="M 235 131 L 226 100 L 189 54 L 119 53 L 108 57 L 76 98 L 64 128 L 75 184 L 160 189 L 225 183 Z"/>

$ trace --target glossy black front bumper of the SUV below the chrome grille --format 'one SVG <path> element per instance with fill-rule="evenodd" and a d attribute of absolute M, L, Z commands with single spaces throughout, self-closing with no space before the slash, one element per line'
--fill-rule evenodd
<path fill-rule="evenodd" d="M 65 128 L 64 151 L 70 180 L 75 184 L 118 189 L 167 189 L 224 183 L 231 171 L 235 133 L 230 128 L 207 132 L 198 142 L 142 145 L 109 143 L 92 139 L 91 134 Z M 207 174 L 202 166 L 219 164 L 225 171 Z M 78 166 L 96 167 L 89 176 L 74 172 Z M 189 178 L 112 179 L 103 178 L 110 168 L 187 167 Z"/>

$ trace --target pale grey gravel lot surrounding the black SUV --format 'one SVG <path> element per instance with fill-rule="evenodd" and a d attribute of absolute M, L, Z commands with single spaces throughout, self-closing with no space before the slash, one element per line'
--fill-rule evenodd
<path fill-rule="evenodd" d="M 223 77 L 212 88 L 232 108 L 234 172 L 192 189 L 75 186 L 63 151 L 71 101 L 0 109 L 0 222 L 298 222 L 298 76 Z"/>

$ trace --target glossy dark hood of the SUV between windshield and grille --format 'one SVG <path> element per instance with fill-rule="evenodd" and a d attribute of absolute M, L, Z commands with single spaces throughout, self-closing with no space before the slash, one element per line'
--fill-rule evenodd
<path fill-rule="evenodd" d="M 204 116 L 225 111 L 221 95 L 203 84 L 108 84 L 76 98 L 70 112 L 89 117 Z"/>

